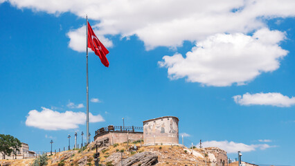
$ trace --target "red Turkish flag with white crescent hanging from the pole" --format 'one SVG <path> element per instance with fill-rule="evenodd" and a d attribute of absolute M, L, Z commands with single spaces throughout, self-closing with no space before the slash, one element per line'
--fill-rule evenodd
<path fill-rule="evenodd" d="M 109 67 L 109 61 L 107 60 L 107 57 L 106 57 L 109 51 L 99 41 L 98 37 L 96 37 L 96 34 L 93 33 L 93 30 L 89 22 L 88 22 L 88 47 L 91 48 L 91 50 L 93 50 L 94 53 L 96 53 L 96 55 L 98 55 L 103 65 L 105 65 L 106 67 Z"/>

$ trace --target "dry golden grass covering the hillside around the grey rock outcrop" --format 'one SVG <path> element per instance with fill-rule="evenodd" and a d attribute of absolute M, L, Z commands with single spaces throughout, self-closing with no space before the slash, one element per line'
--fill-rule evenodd
<path fill-rule="evenodd" d="M 129 146 L 133 144 L 129 143 Z M 93 146 L 92 144 L 89 145 L 89 147 Z M 180 146 L 168 146 L 168 145 L 157 145 L 157 146 L 148 146 L 148 147 L 140 147 L 140 143 L 136 143 L 136 146 L 139 147 L 138 151 L 127 151 L 128 146 L 127 143 L 122 143 L 119 144 L 118 146 L 109 146 L 105 151 L 100 151 L 100 163 L 105 164 L 105 160 L 108 156 L 111 154 L 116 153 L 118 150 L 120 151 L 121 149 L 124 150 L 123 152 L 123 158 L 128 158 L 129 156 L 132 156 L 136 153 L 140 153 L 143 151 L 152 151 L 155 154 L 158 154 L 159 156 L 159 163 L 157 165 L 195 165 L 198 163 L 198 165 L 203 165 L 204 164 L 204 159 L 203 158 L 197 158 L 196 156 L 193 156 L 190 154 L 189 151 L 184 151 L 183 147 Z M 93 149 L 92 151 L 90 148 L 87 147 L 82 153 L 78 153 L 77 150 L 74 151 L 74 156 L 71 156 L 64 160 L 64 165 L 65 166 L 71 166 L 71 165 L 78 165 L 78 160 L 81 158 L 84 158 L 87 156 L 87 160 L 91 163 L 91 165 L 94 165 L 93 161 L 93 154 L 96 153 L 96 149 Z M 118 150 L 117 150 L 118 149 Z M 194 149 L 195 151 L 202 152 L 200 149 Z M 68 151 L 62 151 L 60 153 L 56 153 L 53 156 L 48 156 L 48 166 L 57 166 L 58 163 L 60 163 L 64 159 L 64 154 Z M 202 154 L 202 153 L 201 153 Z M 33 163 L 34 158 L 31 159 L 19 159 L 19 160 L 4 160 L 5 162 L 11 163 L 12 166 L 22 166 L 26 165 L 29 166 L 30 163 Z M 0 160 L 0 163 L 3 160 Z M 55 163 L 53 163 L 55 161 Z"/>

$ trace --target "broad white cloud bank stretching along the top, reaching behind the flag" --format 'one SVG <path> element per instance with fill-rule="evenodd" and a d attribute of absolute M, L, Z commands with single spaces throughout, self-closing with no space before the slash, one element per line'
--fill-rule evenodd
<path fill-rule="evenodd" d="M 88 14 L 89 19 L 93 20 L 91 22 L 98 22 L 93 27 L 99 35 L 136 35 L 147 49 L 180 46 L 184 40 L 202 40 L 216 33 L 249 33 L 266 27 L 265 19 L 295 15 L 293 0 L 185 0 L 181 3 L 177 0 L 8 2 L 17 8 L 30 8 L 35 12 L 44 11 L 57 16 L 63 12 L 71 12 L 84 18 Z M 84 34 L 84 28 L 70 31 L 69 46 L 73 50 L 85 51 L 85 40 L 81 37 Z"/>

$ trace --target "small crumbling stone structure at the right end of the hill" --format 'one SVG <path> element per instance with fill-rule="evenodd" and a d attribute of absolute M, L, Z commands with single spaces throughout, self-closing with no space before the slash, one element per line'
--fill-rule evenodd
<path fill-rule="evenodd" d="M 226 151 L 218 147 L 206 147 L 205 152 L 208 154 L 211 166 L 227 166 L 228 160 Z"/>

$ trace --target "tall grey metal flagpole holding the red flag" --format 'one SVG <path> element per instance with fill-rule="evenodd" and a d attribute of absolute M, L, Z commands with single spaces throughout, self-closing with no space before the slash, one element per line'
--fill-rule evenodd
<path fill-rule="evenodd" d="M 89 143 L 89 93 L 88 93 L 88 18 L 86 15 L 86 125 L 87 125 L 87 144 Z"/>

